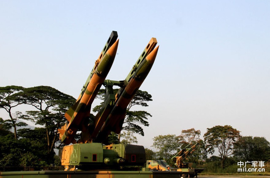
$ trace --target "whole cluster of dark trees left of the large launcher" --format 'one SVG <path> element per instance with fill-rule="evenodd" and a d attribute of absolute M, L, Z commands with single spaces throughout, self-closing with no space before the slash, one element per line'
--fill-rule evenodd
<path fill-rule="evenodd" d="M 44 165 L 46 162 L 49 164 L 55 155 L 53 149 L 57 141 L 57 129 L 65 123 L 64 114 L 75 101 L 75 98 L 50 86 L 0 87 L 0 108 L 5 109 L 10 117 L 10 119 L 0 119 L 0 145 L 2 146 L 0 164 L 2 166 Z M 20 104 L 33 106 L 33 110 L 26 111 L 25 114 L 12 111 Z M 27 125 L 18 122 L 19 119 L 30 120 L 36 125 L 41 125 L 42 128 L 17 131 L 17 127 Z M 10 138 L 11 127 L 14 128 L 15 140 Z M 43 163 L 34 162 L 33 159 L 41 159 Z"/>

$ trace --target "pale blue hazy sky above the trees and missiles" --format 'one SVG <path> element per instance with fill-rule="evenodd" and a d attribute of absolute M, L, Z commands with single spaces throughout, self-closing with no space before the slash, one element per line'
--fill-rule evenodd
<path fill-rule="evenodd" d="M 155 136 L 190 128 L 203 139 L 216 125 L 270 141 L 269 8 L 267 0 L 0 0 L 0 86 L 47 85 L 77 98 L 112 30 L 111 80 L 126 78 L 155 37 L 140 88 L 153 101 L 136 108 L 152 117 L 138 145 L 153 149 Z"/>

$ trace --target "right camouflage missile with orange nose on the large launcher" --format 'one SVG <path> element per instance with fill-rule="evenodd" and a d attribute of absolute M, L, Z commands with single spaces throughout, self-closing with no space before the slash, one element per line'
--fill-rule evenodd
<path fill-rule="evenodd" d="M 120 133 L 126 116 L 126 108 L 151 70 L 158 49 L 159 46 L 152 50 L 135 70 L 123 92 L 117 97 L 114 108 L 97 135 L 97 140 L 102 141 L 107 138 L 111 131 Z"/>

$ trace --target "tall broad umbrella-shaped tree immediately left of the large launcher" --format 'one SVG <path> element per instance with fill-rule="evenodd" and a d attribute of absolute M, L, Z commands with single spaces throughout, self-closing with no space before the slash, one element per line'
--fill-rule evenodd
<path fill-rule="evenodd" d="M 26 104 L 36 110 L 27 111 L 22 119 L 42 125 L 46 130 L 47 154 L 50 155 L 57 141 L 57 129 L 66 122 L 64 114 L 75 103 L 75 98 L 50 86 L 36 86 L 17 93 Z"/>

